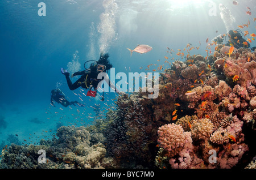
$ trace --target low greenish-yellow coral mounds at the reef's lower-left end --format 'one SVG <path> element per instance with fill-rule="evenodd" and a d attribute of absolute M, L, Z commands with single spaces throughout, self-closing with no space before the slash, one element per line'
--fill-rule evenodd
<path fill-rule="evenodd" d="M 105 158 L 102 143 L 90 146 L 90 133 L 85 127 L 61 126 L 52 140 L 40 145 L 11 144 L 2 150 L 0 168 L 114 168 L 111 158 Z M 44 162 L 39 161 L 40 150 L 45 152 Z"/>

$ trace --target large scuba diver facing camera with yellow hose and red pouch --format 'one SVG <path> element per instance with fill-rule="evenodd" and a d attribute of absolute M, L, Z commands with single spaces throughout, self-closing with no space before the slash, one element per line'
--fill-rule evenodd
<path fill-rule="evenodd" d="M 73 78 L 73 76 L 81 75 L 81 77 L 75 83 L 71 82 L 71 79 L 69 78 L 70 73 L 67 70 L 64 70 L 63 68 L 61 68 L 61 73 L 64 74 L 67 79 L 69 89 L 74 90 L 79 87 L 89 89 L 89 91 L 87 92 L 87 96 L 95 97 L 97 93 L 98 83 L 100 83 L 104 78 L 102 77 L 102 79 L 97 79 L 98 74 L 100 74 L 100 72 L 106 72 L 113 67 L 112 64 L 109 63 L 108 58 L 109 58 L 108 53 L 105 53 L 105 54 L 101 53 L 100 59 L 98 59 L 98 61 L 90 60 L 85 62 L 84 71 L 75 72 L 74 74 L 71 75 L 71 78 Z M 93 61 L 93 63 L 91 63 L 89 68 L 86 68 L 85 64 L 91 61 Z M 106 78 L 108 79 L 109 87 L 114 87 L 114 85 L 110 82 L 107 74 L 106 74 Z M 92 88 L 94 88 L 95 91 L 92 91 Z M 116 88 L 114 90 L 115 92 L 119 93 L 119 91 Z M 103 93 L 103 96 L 104 96 L 104 93 Z M 102 97 L 102 101 L 103 100 L 104 100 L 104 97 Z"/>

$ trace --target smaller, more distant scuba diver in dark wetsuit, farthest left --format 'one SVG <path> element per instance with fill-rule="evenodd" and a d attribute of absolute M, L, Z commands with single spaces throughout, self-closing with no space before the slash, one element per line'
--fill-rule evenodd
<path fill-rule="evenodd" d="M 57 103 L 60 103 L 61 105 L 63 105 L 63 106 L 66 107 L 66 108 L 67 108 L 67 106 L 69 106 L 69 105 L 74 105 L 74 106 L 76 106 L 76 104 L 79 105 L 79 106 L 81 106 L 81 107 L 84 107 L 84 106 L 85 106 L 84 104 L 81 104 L 80 102 L 77 102 L 77 101 L 71 101 L 71 102 L 69 102 L 68 100 L 66 100 L 66 99 L 65 99 L 65 94 L 64 94 L 59 88 L 57 88 L 57 89 L 52 89 L 52 91 L 51 91 L 51 104 L 52 104 L 53 106 L 55 106 L 53 100 L 54 100 L 55 102 L 57 102 Z"/>

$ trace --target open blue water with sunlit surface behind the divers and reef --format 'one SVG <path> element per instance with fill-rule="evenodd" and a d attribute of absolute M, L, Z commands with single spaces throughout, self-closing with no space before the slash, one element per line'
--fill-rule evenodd
<path fill-rule="evenodd" d="M 39 2 L 46 4 L 46 16 L 38 15 Z M 102 112 L 114 108 L 115 93 L 108 93 L 101 102 L 99 98 L 85 97 L 80 88 L 70 91 L 60 73 L 61 67 L 73 72 L 83 70 L 85 61 L 98 60 L 104 50 L 109 53 L 116 73 L 147 72 L 147 65 L 163 64 L 164 56 L 170 55 L 166 52 L 167 47 L 177 53 L 177 49 L 185 48 L 188 43 L 193 46 L 201 43 L 200 49 L 192 50 L 191 54 L 205 56 L 205 40 L 226 33 L 226 24 L 218 8 L 220 3 L 236 19 L 228 22 L 231 27 L 238 29 L 238 25 L 250 20 L 251 25 L 246 30 L 253 33 L 256 26 L 253 22 L 256 17 L 254 0 L 239 1 L 239 5 L 232 2 L 1 1 L 0 114 L 6 124 L 0 126 L 0 144 L 2 141 L 8 143 L 9 134 L 18 135 L 23 143 L 23 139 L 26 143 L 36 143 L 40 138 L 52 138 L 58 125 L 93 123 L 95 112 L 92 106 L 95 104 L 101 105 Z M 251 8 L 251 15 L 245 14 L 246 7 Z M 209 15 L 211 8 L 216 14 Z M 126 48 L 133 49 L 138 44 L 147 44 L 153 49 L 145 54 L 134 52 L 130 56 Z M 251 46 L 256 46 L 255 41 Z M 176 53 L 172 57 L 179 59 Z M 72 66 L 68 67 L 70 63 Z M 143 68 L 140 70 L 139 67 Z M 71 101 L 84 102 L 86 107 L 71 106 L 71 109 L 57 104 L 54 108 L 50 105 L 50 93 L 55 88 L 60 88 Z"/>

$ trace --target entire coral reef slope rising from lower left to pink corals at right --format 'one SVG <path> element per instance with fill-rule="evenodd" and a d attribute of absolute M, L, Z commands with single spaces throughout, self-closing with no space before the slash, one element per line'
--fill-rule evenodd
<path fill-rule="evenodd" d="M 229 48 L 170 63 L 157 98 L 122 94 L 92 126 L 61 126 L 40 145 L 11 144 L 0 168 L 255 168 L 256 53 Z"/>

